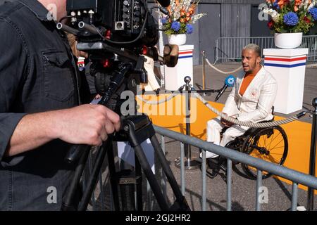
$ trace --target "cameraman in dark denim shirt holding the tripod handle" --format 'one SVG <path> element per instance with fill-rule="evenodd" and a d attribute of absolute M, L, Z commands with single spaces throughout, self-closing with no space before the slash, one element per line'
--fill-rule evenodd
<path fill-rule="evenodd" d="M 57 20 L 66 15 L 66 0 L 0 6 L 0 210 L 60 210 L 70 143 L 99 146 L 120 128 L 108 108 L 81 105 L 85 77 L 52 6 Z"/>

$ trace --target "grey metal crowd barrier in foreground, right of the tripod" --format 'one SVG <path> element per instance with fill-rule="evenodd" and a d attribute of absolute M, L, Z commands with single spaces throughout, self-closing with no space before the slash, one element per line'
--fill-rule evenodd
<path fill-rule="evenodd" d="M 164 129 L 162 127 L 154 126 L 154 129 L 158 134 L 162 136 L 167 136 L 170 139 L 174 139 L 180 141 L 180 157 L 184 157 L 184 144 L 189 144 L 191 146 L 195 146 L 202 150 L 202 166 L 201 166 L 201 210 L 206 210 L 206 150 L 211 151 L 212 153 L 216 153 L 218 155 L 222 155 L 227 158 L 227 210 L 232 210 L 231 205 L 231 180 L 232 180 L 232 161 L 241 162 L 247 165 L 251 165 L 257 169 L 257 179 L 256 179 L 256 210 L 261 210 L 261 203 L 259 202 L 259 194 L 260 188 L 262 186 L 262 171 L 270 172 L 282 178 L 288 179 L 292 181 L 292 205 L 291 210 L 297 210 L 297 191 L 298 184 L 303 184 L 304 186 L 308 186 L 312 189 L 317 188 L 317 178 L 315 176 L 311 176 L 308 174 L 304 174 L 302 172 L 297 172 L 293 169 L 288 169 L 287 167 L 283 167 L 280 165 L 276 165 L 272 162 L 266 162 L 259 158 L 254 158 L 250 155 L 246 155 L 244 153 L 240 153 L 236 150 L 232 150 L 230 148 L 224 148 L 221 146 L 217 146 L 211 144 L 210 142 L 202 141 L 201 139 L 197 139 L 194 137 L 190 137 L 184 134 L 177 133 L 175 131 L 170 131 L 168 129 Z M 165 143 L 163 143 L 164 145 Z M 181 160 L 184 162 L 184 160 Z M 185 194 L 185 167 L 184 163 L 180 166 L 180 186 L 182 193 Z"/>

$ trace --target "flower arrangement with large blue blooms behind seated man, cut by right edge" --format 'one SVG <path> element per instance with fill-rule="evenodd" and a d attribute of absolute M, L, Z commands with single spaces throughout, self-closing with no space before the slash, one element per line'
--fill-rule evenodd
<path fill-rule="evenodd" d="M 263 13 L 271 16 L 268 27 L 277 33 L 309 32 L 317 21 L 317 0 L 266 0 Z"/>

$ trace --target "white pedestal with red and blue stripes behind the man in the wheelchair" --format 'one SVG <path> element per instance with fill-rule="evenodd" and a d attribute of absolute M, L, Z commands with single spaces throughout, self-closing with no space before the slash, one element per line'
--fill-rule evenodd
<path fill-rule="evenodd" d="M 278 82 L 275 112 L 302 110 L 309 49 L 263 49 L 264 67 Z"/>

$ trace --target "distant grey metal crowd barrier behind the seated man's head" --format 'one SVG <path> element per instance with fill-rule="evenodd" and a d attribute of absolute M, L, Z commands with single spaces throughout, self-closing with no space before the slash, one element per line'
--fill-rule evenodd
<path fill-rule="evenodd" d="M 243 46 L 249 43 L 257 44 L 261 49 L 276 48 L 274 37 L 220 37 L 216 40 L 214 64 L 239 62 Z M 309 49 L 308 62 L 317 61 L 317 35 L 304 35 L 299 48 Z"/>

